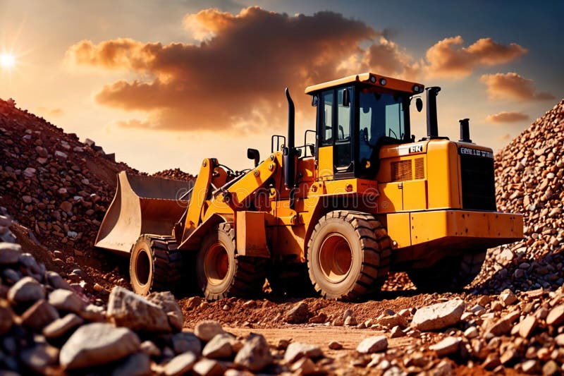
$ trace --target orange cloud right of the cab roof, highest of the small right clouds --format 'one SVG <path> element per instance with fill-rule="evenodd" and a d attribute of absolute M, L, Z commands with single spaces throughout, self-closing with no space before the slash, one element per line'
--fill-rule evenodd
<path fill-rule="evenodd" d="M 429 48 L 425 56 L 427 74 L 439 78 L 464 78 L 479 66 L 508 63 L 527 53 L 527 49 L 519 44 L 499 44 L 491 38 L 479 39 L 468 47 L 461 47 L 463 43 L 458 35 Z"/>

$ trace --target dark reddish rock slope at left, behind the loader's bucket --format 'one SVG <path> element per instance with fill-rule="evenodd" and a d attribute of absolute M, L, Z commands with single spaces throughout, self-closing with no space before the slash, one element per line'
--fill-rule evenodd
<path fill-rule="evenodd" d="M 53 248 L 91 249 L 116 173 L 136 172 L 88 141 L 0 100 L 2 205 Z"/>

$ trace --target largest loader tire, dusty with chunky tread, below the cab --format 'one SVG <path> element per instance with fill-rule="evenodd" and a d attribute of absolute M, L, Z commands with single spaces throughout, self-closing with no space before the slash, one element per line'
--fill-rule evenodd
<path fill-rule="evenodd" d="M 319 219 L 307 245 L 314 289 L 350 301 L 381 288 L 390 268 L 391 241 L 371 214 L 336 210 Z"/>

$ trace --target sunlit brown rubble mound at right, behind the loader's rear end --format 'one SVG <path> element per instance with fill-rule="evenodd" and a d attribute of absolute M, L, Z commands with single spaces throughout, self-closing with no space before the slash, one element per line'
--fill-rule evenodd
<path fill-rule="evenodd" d="M 496 154 L 498 210 L 524 215 L 525 238 L 489 250 L 480 291 L 564 283 L 564 99 Z"/>

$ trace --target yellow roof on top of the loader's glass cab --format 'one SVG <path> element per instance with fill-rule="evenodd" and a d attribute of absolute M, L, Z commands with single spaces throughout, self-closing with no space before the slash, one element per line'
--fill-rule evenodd
<path fill-rule="evenodd" d="M 385 87 L 388 90 L 407 92 L 412 95 L 421 94 L 424 89 L 424 85 L 421 85 L 419 83 L 398 80 L 397 78 L 391 78 L 384 75 L 367 72 L 357 75 L 349 75 L 348 77 L 338 78 L 337 80 L 329 81 L 326 83 L 319 83 L 317 85 L 308 86 L 305 88 L 305 94 L 312 94 L 320 90 L 346 85 L 349 83 L 365 83 L 374 87 Z"/>

